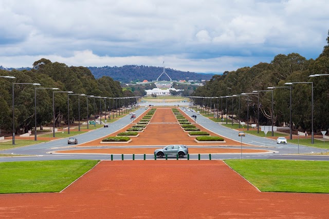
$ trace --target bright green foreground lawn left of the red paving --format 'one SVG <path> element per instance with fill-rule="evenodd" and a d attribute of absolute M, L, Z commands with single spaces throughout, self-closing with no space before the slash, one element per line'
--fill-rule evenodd
<path fill-rule="evenodd" d="M 27 161 L 0 163 L 0 193 L 59 192 L 97 161 Z"/>

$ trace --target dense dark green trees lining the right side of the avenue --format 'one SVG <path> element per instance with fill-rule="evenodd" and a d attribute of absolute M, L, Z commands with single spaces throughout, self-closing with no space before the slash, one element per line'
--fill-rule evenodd
<path fill-rule="evenodd" d="M 291 53 L 279 54 L 271 63 L 259 63 L 252 67 L 225 72 L 223 75 L 214 75 L 205 86 L 199 87 L 193 96 L 227 96 L 259 92 L 260 99 L 260 124 L 271 124 L 271 92 L 268 87 L 288 86 L 286 82 L 309 82 L 308 84 L 293 84 L 292 87 L 292 117 L 293 124 L 297 129 L 310 131 L 312 127 L 312 84 L 314 85 L 314 130 L 329 131 L 329 75 L 309 77 L 311 74 L 329 74 L 329 31 L 326 38 L 328 45 L 324 46 L 323 52 L 318 58 L 306 59 L 305 57 Z M 237 111 L 239 96 L 227 98 L 228 111 L 231 113 L 232 100 L 235 114 Z M 246 120 L 247 101 L 246 96 L 241 98 L 241 118 Z M 217 99 L 215 99 L 217 101 Z M 226 98 L 218 98 L 219 108 L 225 113 Z M 255 122 L 257 118 L 258 95 L 249 94 L 249 115 Z M 209 103 L 206 103 L 209 106 Z M 277 88 L 273 91 L 274 123 L 282 125 L 290 120 L 290 92 L 289 89 Z M 321 132 L 320 132 L 321 134 Z"/>

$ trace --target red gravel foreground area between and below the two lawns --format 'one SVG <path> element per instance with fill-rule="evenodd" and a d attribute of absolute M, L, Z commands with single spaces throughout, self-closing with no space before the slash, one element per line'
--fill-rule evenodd
<path fill-rule="evenodd" d="M 0 195 L 0 217 L 327 218 L 328 205 L 259 192 L 222 161 L 103 161 L 61 193 Z"/>

